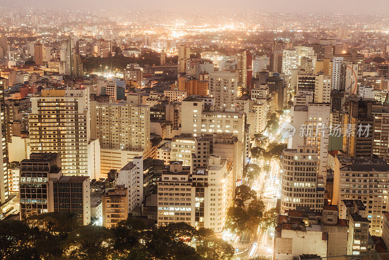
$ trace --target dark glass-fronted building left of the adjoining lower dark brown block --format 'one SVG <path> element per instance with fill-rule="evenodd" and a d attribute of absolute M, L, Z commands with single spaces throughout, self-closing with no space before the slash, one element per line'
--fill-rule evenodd
<path fill-rule="evenodd" d="M 62 176 L 58 153 L 33 152 L 20 162 L 20 219 L 52 212 L 53 181 Z"/>

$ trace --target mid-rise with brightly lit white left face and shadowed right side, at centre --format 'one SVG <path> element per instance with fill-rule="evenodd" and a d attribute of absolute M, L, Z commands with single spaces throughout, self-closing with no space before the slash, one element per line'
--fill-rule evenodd
<path fill-rule="evenodd" d="M 211 151 L 211 137 L 194 137 L 181 133 L 172 138 L 172 161 L 183 162 L 183 166 L 206 167 Z"/>

